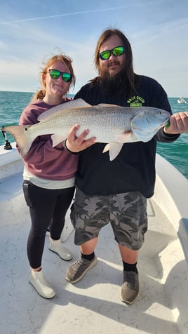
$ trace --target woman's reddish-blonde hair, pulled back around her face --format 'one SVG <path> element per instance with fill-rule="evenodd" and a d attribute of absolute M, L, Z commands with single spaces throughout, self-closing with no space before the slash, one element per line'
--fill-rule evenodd
<path fill-rule="evenodd" d="M 33 98 L 32 98 L 32 102 L 33 101 L 36 101 L 38 99 L 43 99 L 46 95 L 46 83 L 44 81 L 44 76 L 43 74 L 46 74 L 47 73 L 47 70 L 49 67 L 51 67 L 51 65 L 54 64 L 54 62 L 57 62 L 57 61 L 60 61 L 62 62 L 65 66 L 68 67 L 69 71 L 70 71 L 70 74 L 72 74 L 72 79 L 71 79 L 71 83 L 70 83 L 70 86 L 75 86 L 75 83 L 76 83 L 76 77 L 74 75 L 74 71 L 73 71 L 73 68 L 72 68 L 72 59 L 69 58 L 67 55 L 65 54 L 58 54 L 58 55 L 53 55 L 53 57 L 51 57 L 46 63 L 45 65 L 43 66 L 42 70 L 41 70 L 41 73 L 40 73 L 40 81 L 41 81 L 41 86 L 42 88 L 37 91 Z"/>

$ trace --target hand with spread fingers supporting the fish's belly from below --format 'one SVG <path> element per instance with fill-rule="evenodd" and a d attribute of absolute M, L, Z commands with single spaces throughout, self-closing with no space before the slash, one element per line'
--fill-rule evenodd
<path fill-rule="evenodd" d="M 76 124 L 73 126 L 68 134 L 67 140 L 66 140 L 66 146 L 67 149 L 71 152 L 80 152 L 83 151 L 83 149 L 86 149 L 87 147 L 90 147 L 91 145 L 95 144 L 95 137 L 91 137 L 87 140 L 85 140 L 86 136 L 89 133 L 89 130 L 86 129 L 79 135 L 79 137 L 76 137 L 76 131 L 79 129 L 79 124 Z"/>

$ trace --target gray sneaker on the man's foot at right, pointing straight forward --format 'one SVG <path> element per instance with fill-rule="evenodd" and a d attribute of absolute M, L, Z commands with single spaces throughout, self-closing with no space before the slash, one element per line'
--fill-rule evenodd
<path fill-rule="evenodd" d="M 123 271 L 123 285 L 121 286 L 121 300 L 133 304 L 139 293 L 138 274 Z"/>

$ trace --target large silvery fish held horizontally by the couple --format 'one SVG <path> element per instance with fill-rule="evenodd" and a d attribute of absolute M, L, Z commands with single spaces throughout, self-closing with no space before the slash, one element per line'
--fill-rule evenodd
<path fill-rule="evenodd" d="M 76 135 L 89 129 L 87 138 L 96 137 L 96 142 L 107 143 L 103 152 L 109 151 L 112 161 L 126 142 L 147 142 L 165 126 L 170 114 L 153 107 L 120 107 L 100 104 L 91 106 L 82 99 L 58 105 L 38 117 L 39 123 L 25 126 L 4 126 L 1 131 L 13 135 L 24 157 L 32 142 L 39 135 L 52 134 L 53 146 L 67 138 L 69 129 L 78 123 Z M 87 139 L 86 138 L 86 139 Z"/>

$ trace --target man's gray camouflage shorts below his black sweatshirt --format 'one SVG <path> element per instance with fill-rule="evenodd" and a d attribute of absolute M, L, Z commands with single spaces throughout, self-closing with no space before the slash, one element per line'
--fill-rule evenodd
<path fill-rule="evenodd" d="M 138 250 L 147 232 L 147 199 L 140 192 L 87 196 L 77 188 L 71 220 L 76 245 L 97 237 L 100 229 L 110 222 L 115 240 Z"/>

